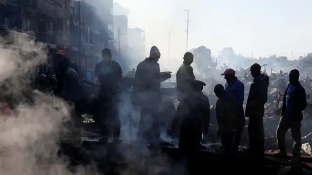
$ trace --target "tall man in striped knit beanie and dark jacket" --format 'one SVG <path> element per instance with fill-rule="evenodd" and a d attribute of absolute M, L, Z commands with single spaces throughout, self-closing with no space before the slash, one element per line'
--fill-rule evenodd
<path fill-rule="evenodd" d="M 140 122 L 138 136 L 145 140 L 160 139 L 159 113 L 160 96 L 160 68 L 158 59 L 160 52 L 156 46 L 150 51 L 150 57 L 145 58 L 137 65 L 135 82 L 133 86 L 133 101 L 140 106 Z M 148 116 L 153 118 L 152 127 L 144 130 L 144 123 Z"/>

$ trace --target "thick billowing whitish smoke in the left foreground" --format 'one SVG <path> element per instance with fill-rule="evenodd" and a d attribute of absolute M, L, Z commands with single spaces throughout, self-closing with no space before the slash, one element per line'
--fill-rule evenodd
<path fill-rule="evenodd" d="M 22 102 L 31 93 L 31 71 L 46 60 L 43 44 L 26 35 L 0 39 L 0 97 L 15 104 L 12 116 L 0 116 L 0 175 L 72 174 L 57 156 L 59 138 L 67 135 L 61 132 L 70 116 L 67 105 L 39 92 L 32 103 Z"/>

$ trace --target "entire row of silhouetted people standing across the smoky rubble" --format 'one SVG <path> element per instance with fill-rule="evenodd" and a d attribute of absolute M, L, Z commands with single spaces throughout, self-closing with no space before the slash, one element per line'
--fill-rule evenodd
<path fill-rule="evenodd" d="M 65 57 L 63 51 L 58 51 L 58 88 L 56 93 L 61 94 L 66 100 L 78 105 L 83 97 L 83 83 L 78 71 L 72 66 L 71 61 Z M 161 112 L 160 83 L 163 78 L 171 75 L 160 75 L 158 60 L 161 54 L 156 46 L 150 51 L 150 56 L 137 65 L 131 100 L 140 107 L 140 122 L 138 136 L 146 140 L 160 138 L 159 114 Z M 112 60 L 109 49 L 102 50 L 103 61 L 96 65 L 95 76 L 100 83 L 98 99 L 95 103 L 94 119 L 100 125 L 103 136 L 114 133 L 114 139 L 120 135 L 120 121 L 118 116 L 118 103 L 122 70 L 120 65 Z M 206 135 L 210 122 L 210 102 L 202 92 L 206 85 L 196 80 L 191 66 L 194 56 L 187 52 L 183 64 L 176 73 L 177 100 L 179 106 L 173 123 L 173 131 L 179 128 L 179 147 L 186 150 L 200 149 L 202 134 Z M 74 66 L 75 67 L 75 66 Z M 249 154 L 252 160 L 264 160 L 264 104 L 268 99 L 269 77 L 261 73 L 261 66 L 257 63 L 250 68 L 254 78 L 249 90 L 246 109 L 244 112 L 245 88 L 233 69 L 227 69 L 221 76 L 226 79 L 226 84 L 217 84 L 214 88 L 218 97 L 216 102 L 216 120 L 218 136 L 230 156 L 238 153 L 241 134 L 246 126 L 245 117 L 249 118 Z M 165 77 L 162 77 L 165 76 Z M 276 132 L 280 152 L 285 155 L 285 134 L 289 128 L 294 139 L 292 162 L 300 159 L 301 148 L 301 120 L 302 111 L 306 108 L 306 93 L 299 83 L 299 71 L 292 70 L 289 74 L 289 84 L 285 91 L 282 114 Z M 78 107 L 79 108 L 79 107 Z M 146 129 L 145 120 L 152 119 L 151 127 Z"/>

